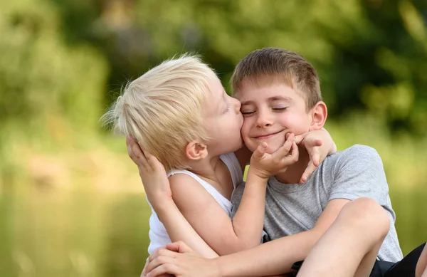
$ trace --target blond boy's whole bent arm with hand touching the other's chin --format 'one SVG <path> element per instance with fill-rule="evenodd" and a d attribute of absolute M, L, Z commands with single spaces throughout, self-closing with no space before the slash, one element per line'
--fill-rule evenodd
<path fill-rule="evenodd" d="M 253 166 L 249 169 L 242 201 L 233 219 L 193 178 L 184 174 L 169 177 L 176 206 L 220 256 L 260 244 L 268 177 L 297 160 L 297 145 L 293 137 L 273 155 L 264 154 L 265 149 L 266 145 L 260 145 L 253 153 Z M 290 149 L 292 152 L 289 154 Z M 273 165 L 268 170 L 261 169 L 265 164 Z"/>

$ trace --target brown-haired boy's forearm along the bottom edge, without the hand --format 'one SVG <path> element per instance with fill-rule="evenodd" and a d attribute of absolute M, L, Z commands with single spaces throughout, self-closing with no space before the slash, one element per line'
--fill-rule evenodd
<path fill-rule="evenodd" d="M 253 249 L 221 256 L 215 260 L 222 277 L 270 276 L 288 273 L 293 263 L 307 257 L 322 234 L 322 231 L 312 229 L 270 241 Z"/>

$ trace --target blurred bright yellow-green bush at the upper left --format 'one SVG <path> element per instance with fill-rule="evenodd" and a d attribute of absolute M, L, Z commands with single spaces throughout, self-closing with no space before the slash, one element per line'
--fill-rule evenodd
<path fill-rule="evenodd" d="M 108 72 L 102 56 L 88 43 L 65 43 L 48 1 L 7 1 L 0 13 L 1 124 L 26 126 L 25 135 L 68 124 L 96 129 Z"/>

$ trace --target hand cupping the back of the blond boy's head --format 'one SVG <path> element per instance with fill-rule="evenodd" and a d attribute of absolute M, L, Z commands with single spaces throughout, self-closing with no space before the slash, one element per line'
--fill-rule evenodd
<path fill-rule="evenodd" d="M 151 204 L 172 200 L 172 191 L 163 164 L 139 147 L 132 137 L 126 137 L 127 153 L 139 169 L 139 176 Z"/>

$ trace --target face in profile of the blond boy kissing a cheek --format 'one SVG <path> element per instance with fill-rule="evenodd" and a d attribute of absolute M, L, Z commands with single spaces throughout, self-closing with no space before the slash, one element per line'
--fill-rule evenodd
<path fill-rule="evenodd" d="M 218 78 L 211 80 L 209 87 L 211 94 L 203 105 L 204 126 L 211 137 L 209 153 L 216 156 L 234 152 L 243 146 L 241 103 L 227 95 Z"/>

